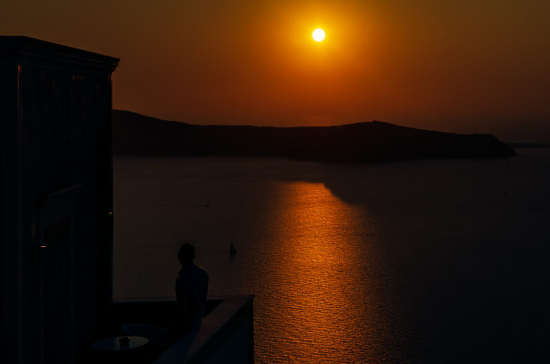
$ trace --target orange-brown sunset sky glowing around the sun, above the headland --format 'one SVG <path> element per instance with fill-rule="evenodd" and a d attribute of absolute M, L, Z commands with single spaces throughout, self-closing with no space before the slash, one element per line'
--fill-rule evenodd
<path fill-rule="evenodd" d="M 550 141 L 549 14 L 549 0 L 2 0 L 0 34 L 121 58 L 115 109 L 168 120 Z"/>

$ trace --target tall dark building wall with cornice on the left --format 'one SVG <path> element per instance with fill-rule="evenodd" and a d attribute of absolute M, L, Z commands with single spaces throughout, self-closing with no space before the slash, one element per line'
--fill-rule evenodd
<path fill-rule="evenodd" d="M 73 363 L 106 315 L 117 65 L 0 36 L 2 363 Z"/>

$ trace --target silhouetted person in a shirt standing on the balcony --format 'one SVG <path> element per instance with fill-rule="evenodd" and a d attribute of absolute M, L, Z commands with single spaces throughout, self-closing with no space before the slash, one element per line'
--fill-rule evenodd
<path fill-rule="evenodd" d="M 171 330 L 173 340 L 199 328 L 208 295 L 208 273 L 193 263 L 195 247 L 188 243 L 181 245 L 177 258 L 181 270 L 175 284 L 178 312 Z"/>

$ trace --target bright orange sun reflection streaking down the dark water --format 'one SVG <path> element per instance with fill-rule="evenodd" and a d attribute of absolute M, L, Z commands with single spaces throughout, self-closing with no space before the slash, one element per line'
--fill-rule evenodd
<path fill-rule="evenodd" d="M 365 209 L 342 202 L 323 183 L 281 183 L 274 193 L 275 214 L 266 226 L 277 230 L 258 290 L 270 297 L 258 297 L 256 310 L 263 359 L 321 363 L 364 356 L 364 339 L 377 335 L 367 310 L 371 285 L 357 271 L 373 260 L 359 247 L 370 228 L 358 225 L 369 220 Z"/>

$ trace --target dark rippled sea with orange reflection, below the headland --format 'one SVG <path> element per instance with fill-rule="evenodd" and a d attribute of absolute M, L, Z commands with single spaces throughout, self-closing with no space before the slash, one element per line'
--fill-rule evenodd
<path fill-rule="evenodd" d="M 256 295 L 259 363 L 542 362 L 550 150 L 518 152 L 115 158 L 115 297 L 173 296 L 192 242 L 210 294 Z"/>

